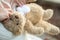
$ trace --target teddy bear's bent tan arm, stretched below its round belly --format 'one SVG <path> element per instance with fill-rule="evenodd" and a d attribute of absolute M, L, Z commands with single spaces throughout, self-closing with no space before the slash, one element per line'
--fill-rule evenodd
<path fill-rule="evenodd" d="M 28 33 L 31 34 L 40 35 L 44 33 L 44 29 L 42 27 L 33 26 L 33 24 L 29 20 L 27 20 L 24 28 Z"/>

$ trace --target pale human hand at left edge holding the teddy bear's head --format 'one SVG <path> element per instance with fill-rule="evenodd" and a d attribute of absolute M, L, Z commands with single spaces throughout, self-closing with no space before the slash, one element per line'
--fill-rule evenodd
<path fill-rule="evenodd" d="M 7 3 L 0 3 L 0 21 L 3 21 L 9 18 L 9 15 L 12 13 L 10 6 Z"/>

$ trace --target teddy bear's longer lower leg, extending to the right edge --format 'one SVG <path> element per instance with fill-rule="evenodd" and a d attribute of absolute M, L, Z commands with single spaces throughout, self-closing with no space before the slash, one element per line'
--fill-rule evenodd
<path fill-rule="evenodd" d="M 59 34 L 59 28 L 57 26 L 54 26 L 46 21 L 40 21 L 36 24 L 36 26 L 41 26 L 45 29 L 45 32 L 51 35 L 57 35 Z"/>

